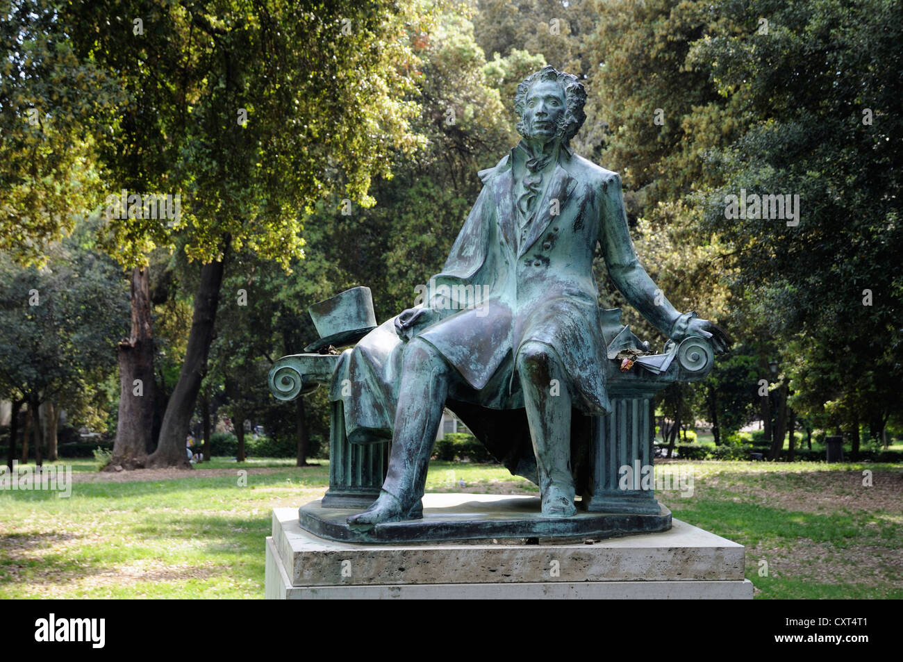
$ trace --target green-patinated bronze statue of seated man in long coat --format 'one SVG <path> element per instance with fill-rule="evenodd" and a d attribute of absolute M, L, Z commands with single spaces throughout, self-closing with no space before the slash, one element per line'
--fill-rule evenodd
<path fill-rule="evenodd" d="M 392 439 L 380 495 L 350 525 L 421 517 L 433 442 L 452 402 L 479 419 L 464 422 L 484 443 L 492 438 L 490 451 L 511 471 L 535 477 L 544 515 L 574 514 L 573 413 L 610 411 L 597 242 L 612 282 L 659 331 L 726 350 L 715 325 L 677 312 L 640 266 L 619 175 L 573 153 L 585 100 L 580 81 L 552 67 L 518 85 L 523 140 L 479 172 L 483 188 L 424 302 L 343 355 L 330 398 L 342 400 L 349 439 Z M 526 414 L 532 448 L 504 448 L 512 412 Z"/>

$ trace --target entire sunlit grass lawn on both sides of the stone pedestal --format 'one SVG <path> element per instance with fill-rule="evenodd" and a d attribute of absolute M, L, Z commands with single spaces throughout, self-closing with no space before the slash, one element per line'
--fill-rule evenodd
<path fill-rule="evenodd" d="M 0 598 L 261 598 L 271 508 L 317 499 L 329 482 L 327 462 L 214 458 L 190 473 L 116 474 L 66 462 L 68 499 L 0 491 Z M 903 598 L 899 465 L 669 464 L 693 471 L 694 494 L 659 498 L 747 546 L 757 597 Z M 431 464 L 427 490 L 538 493 L 498 466 L 454 462 Z"/>

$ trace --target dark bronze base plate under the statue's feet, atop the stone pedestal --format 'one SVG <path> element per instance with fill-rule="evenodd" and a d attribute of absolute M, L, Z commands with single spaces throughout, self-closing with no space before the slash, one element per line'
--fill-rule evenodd
<path fill-rule="evenodd" d="M 299 509 L 301 528 L 342 543 L 412 544 L 461 540 L 508 540 L 520 544 L 582 542 L 671 528 L 671 511 L 656 504 L 655 514 L 578 510 L 573 517 L 545 517 L 539 497 L 492 494 L 429 494 L 423 519 L 350 527 L 346 519 L 365 508 L 323 508 L 312 501 Z"/>

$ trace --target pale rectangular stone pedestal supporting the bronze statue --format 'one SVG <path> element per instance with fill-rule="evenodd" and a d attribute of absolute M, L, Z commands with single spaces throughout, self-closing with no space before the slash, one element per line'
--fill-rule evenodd
<path fill-rule="evenodd" d="M 512 497 L 428 494 L 424 508 L 460 507 L 474 499 Z M 662 533 L 542 543 L 545 540 L 535 538 L 472 544 L 340 543 L 304 531 L 294 508 L 275 508 L 273 536 L 266 538 L 265 597 L 752 597 L 752 583 L 743 576 L 743 546 L 678 519 Z"/>

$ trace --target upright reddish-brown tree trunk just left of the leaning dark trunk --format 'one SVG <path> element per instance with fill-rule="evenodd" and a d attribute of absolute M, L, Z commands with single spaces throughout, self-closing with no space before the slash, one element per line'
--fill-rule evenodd
<path fill-rule="evenodd" d="M 154 335 L 148 269 L 132 269 L 132 328 L 119 342 L 119 419 L 105 471 L 141 469 L 154 443 Z"/>

